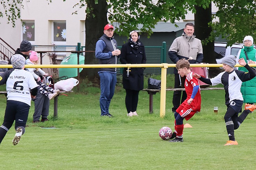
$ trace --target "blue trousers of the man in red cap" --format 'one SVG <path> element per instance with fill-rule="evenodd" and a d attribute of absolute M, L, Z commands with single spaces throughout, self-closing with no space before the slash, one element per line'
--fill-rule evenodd
<path fill-rule="evenodd" d="M 100 72 L 100 99 L 101 115 L 109 114 L 108 108 L 115 92 L 116 73 Z"/>

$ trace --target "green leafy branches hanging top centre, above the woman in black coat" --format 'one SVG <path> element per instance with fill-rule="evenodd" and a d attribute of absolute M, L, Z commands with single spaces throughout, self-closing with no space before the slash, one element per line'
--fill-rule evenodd
<path fill-rule="evenodd" d="M 75 6 L 82 8 L 85 3 L 93 3 L 95 0 L 80 0 Z M 96 2 L 94 2 L 96 3 Z M 159 20 L 174 23 L 175 19 L 185 19 L 188 11 L 194 11 L 194 5 L 209 7 L 210 0 L 107 0 L 108 20 L 110 23 L 118 22 L 115 32 L 119 35 L 126 35 L 133 29 L 142 25 L 141 32 L 152 34 L 152 29 Z M 75 7 L 74 6 L 74 7 Z M 87 15 L 92 10 L 86 9 Z M 75 11 L 74 13 L 77 13 Z M 95 14 L 97 15 L 97 14 Z"/>

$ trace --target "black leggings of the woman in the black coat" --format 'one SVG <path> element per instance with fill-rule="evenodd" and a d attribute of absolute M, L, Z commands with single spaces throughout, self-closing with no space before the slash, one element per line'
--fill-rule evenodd
<path fill-rule="evenodd" d="M 138 105 L 138 96 L 140 91 L 126 89 L 125 105 L 127 113 L 135 112 Z"/>

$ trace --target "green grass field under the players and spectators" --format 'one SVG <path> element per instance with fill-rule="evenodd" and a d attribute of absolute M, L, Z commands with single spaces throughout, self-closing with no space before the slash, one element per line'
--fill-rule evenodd
<path fill-rule="evenodd" d="M 80 84 L 79 93 L 60 95 L 58 119 L 53 118 L 51 101 L 50 121 L 32 124 L 32 102 L 20 143 L 12 144 L 12 127 L 0 145 L 0 169 L 256 169 L 255 113 L 235 130 L 239 145 L 223 146 L 228 140 L 223 90 L 202 91 L 201 112 L 184 121 L 193 128 L 184 129 L 183 143 L 170 143 L 158 131 L 163 126 L 174 129 L 173 92 L 166 93 L 164 118 L 159 114 L 160 93 L 154 95 L 154 113 L 149 114 L 146 92 L 139 95 L 139 116 L 127 117 L 125 91 L 118 86 L 110 106 L 114 117 L 109 118 L 100 117 L 99 88 L 87 84 Z M 1 95 L 0 102 L 2 124 L 6 97 Z"/>

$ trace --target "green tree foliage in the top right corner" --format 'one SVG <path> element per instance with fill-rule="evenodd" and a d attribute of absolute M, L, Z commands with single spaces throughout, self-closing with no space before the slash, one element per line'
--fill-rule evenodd
<path fill-rule="evenodd" d="M 219 8 L 216 17 L 220 22 L 210 23 L 214 32 L 209 37 L 214 40 L 219 35 L 228 40 L 228 44 L 242 43 L 244 36 L 256 36 L 256 3 L 254 0 L 246 1 L 217 1 L 214 3 Z"/>

